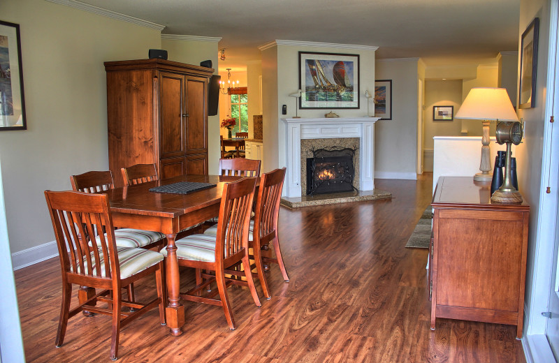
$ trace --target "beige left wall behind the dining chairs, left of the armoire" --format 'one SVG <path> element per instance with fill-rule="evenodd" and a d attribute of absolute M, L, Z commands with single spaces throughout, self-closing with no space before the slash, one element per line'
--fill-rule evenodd
<path fill-rule="evenodd" d="M 103 61 L 140 59 L 160 32 L 44 0 L 3 0 L 1 19 L 20 24 L 27 131 L 0 133 L 12 252 L 55 240 L 43 191 L 69 176 L 107 170 Z"/>

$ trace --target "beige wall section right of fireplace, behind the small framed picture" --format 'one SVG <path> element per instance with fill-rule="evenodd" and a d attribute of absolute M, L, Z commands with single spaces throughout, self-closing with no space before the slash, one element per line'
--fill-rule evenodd
<path fill-rule="evenodd" d="M 379 59 L 377 80 L 392 80 L 392 119 L 375 124 L 375 178 L 415 179 L 419 59 Z"/>

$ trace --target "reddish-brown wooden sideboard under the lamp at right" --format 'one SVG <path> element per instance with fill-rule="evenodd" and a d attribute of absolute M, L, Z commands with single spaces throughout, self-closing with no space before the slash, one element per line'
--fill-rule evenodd
<path fill-rule="evenodd" d="M 440 177 L 433 195 L 429 281 L 435 318 L 516 325 L 522 336 L 528 216 L 491 203 L 491 185 Z"/>

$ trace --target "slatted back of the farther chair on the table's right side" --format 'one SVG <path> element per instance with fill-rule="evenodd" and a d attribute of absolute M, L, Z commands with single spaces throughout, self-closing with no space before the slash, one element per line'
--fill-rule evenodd
<path fill-rule="evenodd" d="M 277 235 L 277 218 L 284 179 L 285 168 L 276 169 L 261 176 L 254 211 L 253 231 L 255 241 L 259 241 L 261 245 L 268 244 Z"/>

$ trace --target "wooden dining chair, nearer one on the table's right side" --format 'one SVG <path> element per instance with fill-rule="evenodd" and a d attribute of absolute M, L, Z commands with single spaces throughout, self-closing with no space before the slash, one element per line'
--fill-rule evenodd
<path fill-rule="evenodd" d="M 226 268 L 239 262 L 245 267 L 246 285 L 256 306 L 261 306 L 250 272 L 248 253 L 250 212 L 255 185 L 256 178 L 242 178 L 224 185 L 219 205 L 217 235 L 191 235 L 175 241 L 178 265 L 196 269 L 196 286 L 180 296 L 192 302 L 221 305 L 231 330 L 235 329 L 236 325 L 227 286 L 235 281 L 226 281 Z M 161 253 L 168 258 L 166 249 Z M 217 290 L 207 292 L 210 284 L 214 282 L 217 284 Z M 215 298 L 218 294 L 219 299 Z"/>

